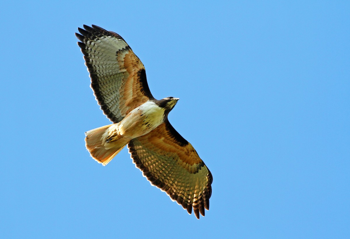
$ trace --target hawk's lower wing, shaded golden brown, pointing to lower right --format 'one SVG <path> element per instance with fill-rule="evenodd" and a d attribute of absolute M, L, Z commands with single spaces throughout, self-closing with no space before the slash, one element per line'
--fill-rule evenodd
<path fill-rule="evenodd" d="M 130 141 L 129 153 L 147 180 L 195 216 L 209 210 L 212 176 L 193 146 L 170 125 L 163 124 Z"/>

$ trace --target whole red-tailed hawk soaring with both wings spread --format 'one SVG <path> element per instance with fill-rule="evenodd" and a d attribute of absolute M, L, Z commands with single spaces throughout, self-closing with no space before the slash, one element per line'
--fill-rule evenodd
<path fill-rule="evenodd" d="M 128 145 L 133 163 L 152 185 L 199 219 L 209 210 L 212 176 L 193 146 L 169 123 L 178 98 L 155 99 L 145 67 L 117 33 L 84 25 L 76 33 L 91 88 L 113 124 L 85 133 L 86 148 L 104 166 Z"/>

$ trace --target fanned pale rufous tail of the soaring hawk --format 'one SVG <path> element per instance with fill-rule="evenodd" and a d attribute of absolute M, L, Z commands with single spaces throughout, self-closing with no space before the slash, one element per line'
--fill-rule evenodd
<path fill-rule="evenodd" d="M 121 138 L 113 142 L 106 142 L 109 136 L 109 127 L 106 125 L 85 132 L 85 147 L 91 157 L 103 166 L 106 166 L 128 143 Z"/>

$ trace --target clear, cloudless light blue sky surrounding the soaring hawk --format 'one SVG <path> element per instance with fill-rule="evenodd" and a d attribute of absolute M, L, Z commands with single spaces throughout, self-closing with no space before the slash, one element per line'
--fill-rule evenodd
<path fill-rule="evenodd" d="M 349 238 L 349 1 L 6 1 L 1 20 L 2 238 Z M 110 124 L 74 33 L 120 34 L 214 178 L 194 215 L 127 149 L 106 167 L 84 132 Z"/>

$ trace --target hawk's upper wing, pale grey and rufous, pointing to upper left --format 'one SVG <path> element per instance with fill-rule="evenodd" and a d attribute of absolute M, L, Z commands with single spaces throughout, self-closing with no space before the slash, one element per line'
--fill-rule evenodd
<path fill-rule="evenodd" d="M 117 33 L 84 25 L 76 33 L 85 65 L 90 72 L 91 88 L 103 113 L 113 123 L 149 99 L 145 67 Z"/>

